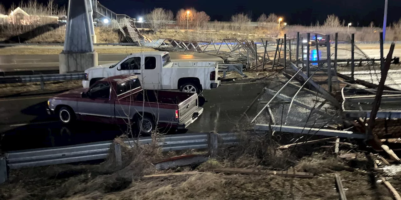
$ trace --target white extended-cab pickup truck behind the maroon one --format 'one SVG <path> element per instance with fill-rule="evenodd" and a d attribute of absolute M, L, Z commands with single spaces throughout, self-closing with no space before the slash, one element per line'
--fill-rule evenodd
<path fill-rule="evenodd" d="M 118 63 L 85 70 L 84 88 L 110 76 L 138 76 L 144 89 L 177 90 L 200 94 L 220 85 L 218 62 L 171 62 L 168 52 L 154 51 L 128 55 Z"/>

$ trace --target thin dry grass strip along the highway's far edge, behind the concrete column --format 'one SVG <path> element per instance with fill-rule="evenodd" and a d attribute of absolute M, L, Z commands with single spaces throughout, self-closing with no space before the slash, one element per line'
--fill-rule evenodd
<path fill-rule="evenodd" d="M 63 46 L 15 46 L 0 48 L 0 55 L 55 55 L 62 50 Z M 95 51 L 99 54 L 130 54 L 155 50 L 138 46 L 95 46 Z"/>

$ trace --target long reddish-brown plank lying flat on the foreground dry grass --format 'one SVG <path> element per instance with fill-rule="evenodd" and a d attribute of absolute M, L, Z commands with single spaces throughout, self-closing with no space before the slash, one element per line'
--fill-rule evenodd
<path fill-rule="evenodd" d="M 241 168 L 215 168 L 213 172 L 225 172 L 232 174 L 260 174 L 260 175 L 278 175 L 278 176 L 290 176 L 290 177 L 303 177 L 313 178 L 314 175 L 308 172 L 296 172 L 296 171 L 273 171 L 273 170 L 259 170 L 259 169 L 241 169 Z"/>

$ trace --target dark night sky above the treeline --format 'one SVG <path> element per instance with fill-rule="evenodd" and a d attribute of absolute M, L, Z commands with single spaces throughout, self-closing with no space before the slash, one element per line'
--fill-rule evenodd
<path fill-rule="evenodd" d="M 38 0 L 47 2 L 47 0 Z M 11 4 L 12 1 L 3 2 Z M 18 4 L 19 1 L 16 1 Z M 55 0 L 59 5 L 67 0 Z M 261 13 L 274 12 L 283 16 L 289 24 L 310 25 L 317 21 L 323 24 L 328 14 L 336 14 L 353 26 L 368 26 L 371 21 L 382 26 L 384 0 L 99 0 L 101 4 L 118 14 L 128 14 L 133 18 L 143 16 L 153 8 L 172 10 L 194 7 L 205 11 L 211 20 L 229 21 L 237 12 L 244 12 L 255 21 Z M 387 23 L 401 18 L 401 0 L 389 0 Z"/>

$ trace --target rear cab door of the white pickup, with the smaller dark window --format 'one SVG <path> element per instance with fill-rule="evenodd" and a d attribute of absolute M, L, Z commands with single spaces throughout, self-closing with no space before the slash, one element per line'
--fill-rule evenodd
<path fill-rule="evenodd" d="M 160 67 L 159 63 L 156 62 L 155 56 L 144 56 L 143 64 L 138 70 L 134 70 L 137 74 L 138 79 L 142 84 L 142 88 L 147 90 L 160 90 Z"/>

